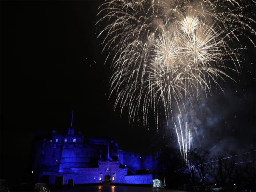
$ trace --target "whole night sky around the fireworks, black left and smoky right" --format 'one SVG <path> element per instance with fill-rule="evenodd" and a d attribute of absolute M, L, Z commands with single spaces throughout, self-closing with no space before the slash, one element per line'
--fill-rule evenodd
<path fill-rule="evenodd" d="M 13 173 L 18 178 L 29 168 L 30 144 L 38 132 L 67 134 L 72 110 L 75 131 L 86 138 L 113 138 L 125 150 L 150 152 L 161 138 L 173 138 L 173 126 L 156 133 L 152 124 L 146 131 L 114 112 L 114 98 L 108 99 L 111 72 L 109 63 L 104 65 L 108 53 L 102 53 L 95 26 L 100 4 L 1 1 L 2 178 Z M 255 149 L 256 54 L 251 44 L 247 48 L 242 73 L 230 74 L 236 82 L 220 82 L 225 93 L 216 89 L 195 102 L 196 118 L 188 118 L 195 127 L 194 147 Z"/>

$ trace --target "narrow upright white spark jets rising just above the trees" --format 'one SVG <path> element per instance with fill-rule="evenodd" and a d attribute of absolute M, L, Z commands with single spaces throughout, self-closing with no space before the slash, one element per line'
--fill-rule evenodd
<path fill-rule="evenodd" d="M 174 123 L 174 127 L 176 130 L 177 140 L 178 140 L 178 144 L 180 147 L 180 155 L 185 162 L 188 162 L 189 154 L 190 154 L 190 130 L 187 132 L 187 122 L 186 122 L 185 139 L 184 139 L 184 137 L 183 137 L 184 130 L 182 130 L 179 116 L 178 116 L 178 121 L 179 121 L 179 125 L 180 125 L 180 132 L 178 132 L 178 129 L 177 129 L 177 126 L 175 123 Z"/>

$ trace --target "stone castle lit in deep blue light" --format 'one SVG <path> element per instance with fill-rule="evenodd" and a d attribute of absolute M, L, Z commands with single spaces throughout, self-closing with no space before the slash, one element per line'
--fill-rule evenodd
<path fill-rule="evenodd" d="M 68 129 L 68 134 L 56 134 L 36 143 L 34 170 L 38 181 L 48 184 L 114 182 L 120 184 L 152 184 L 156 177 L 157 156 L 127 152 L 118 143 L 90 138 L 84 142 L 80 131 Z"/>

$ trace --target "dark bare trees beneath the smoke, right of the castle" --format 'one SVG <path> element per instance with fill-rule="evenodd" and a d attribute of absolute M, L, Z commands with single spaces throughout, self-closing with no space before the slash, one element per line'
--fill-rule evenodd
<path fill-rule="evenodd" d="M 195 148 L 190 151 L 189 162 L 182 160 L 178 150 L 162 151 L 159 156 L 158 176 L 164 177 L 166 186 L 177 188 L 185 183 L 218 184 L 248 188 L 255 191 L 256 150 L 237 154 L 227 148 L 218 154 Z"/>

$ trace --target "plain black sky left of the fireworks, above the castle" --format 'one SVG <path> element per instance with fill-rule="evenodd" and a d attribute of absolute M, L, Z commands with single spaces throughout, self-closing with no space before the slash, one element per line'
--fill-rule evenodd
<path fill-rule="evenodd" d="M 109 68 L 95 27 L 102 2 L 1 1 L 2 177 L 29 167 L 38 131 L 67 134 L 72 110 L 86 138 L 113 138 L 137 151 L 150 144 L 140 138 L 151 133 L 130 126 L 108 100 Z"/>

